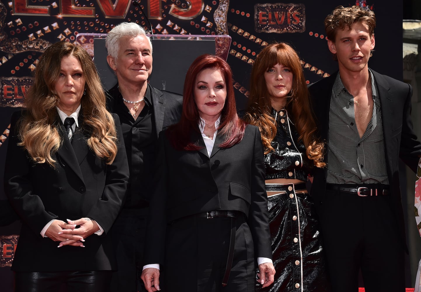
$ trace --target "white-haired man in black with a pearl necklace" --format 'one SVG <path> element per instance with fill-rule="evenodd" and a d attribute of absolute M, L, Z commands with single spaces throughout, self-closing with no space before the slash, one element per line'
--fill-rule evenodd
<path fill-rule="evenodd" d="M 117 84 L 107 92 L 107 108 L 120 117 L 131 182 L 111 230 L 118 266 L 111 288 L 146 291 L 139 277 L 149 199 L 154 190 L 157 137 L 179 121 L 182 96 L 147 83 L 152 72 L 152 42 L 138 24 L 118 24 L 108 33 L 105 46 L 109 67 L 117 75 Z"/>

